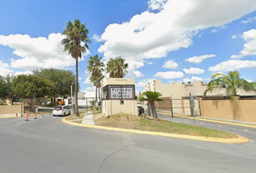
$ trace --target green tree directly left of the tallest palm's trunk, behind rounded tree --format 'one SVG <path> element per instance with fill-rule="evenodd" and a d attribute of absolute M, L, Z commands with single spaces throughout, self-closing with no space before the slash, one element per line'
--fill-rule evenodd
<path fill-rule="evenodd" d="M 34 70 L 33 74 L 48 79 L 54 84 L 49 95 L 49 97 L 54 98 L 54 102 L 56 97 L 67 97 L 70 95 L 70 86 L 75 83 L 75 75 L 69 70 L 42 68 Z"/>

